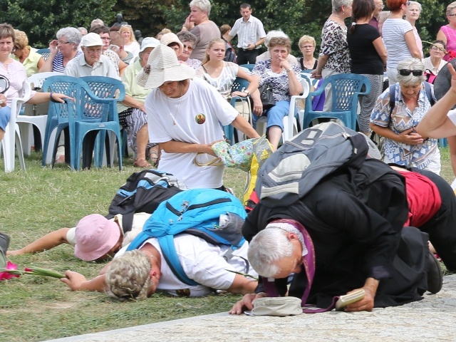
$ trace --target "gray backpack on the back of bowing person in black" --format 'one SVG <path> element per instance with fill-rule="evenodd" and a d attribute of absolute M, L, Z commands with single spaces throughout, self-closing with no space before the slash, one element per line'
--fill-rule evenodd
<path fill-rule="evenodd" d="M 314 125 L 284 142 L 264 162 L 255 191 L 266 207 L 290 205 L 337 170 L 354 174 L 367 153 L 366 139 L 354 130 L 333 121 Z"/>

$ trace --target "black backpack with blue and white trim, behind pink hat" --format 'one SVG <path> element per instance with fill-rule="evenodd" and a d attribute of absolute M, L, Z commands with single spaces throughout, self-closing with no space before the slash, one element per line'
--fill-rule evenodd
<path fill-rule="evenodd" d="M 152 214 L 158 204 L 185 189 L 187 187 L 169 173 L 158 170 L 135 172 L 115 194 L 106 218 L 112 219 L 116 214 L 122 214 L 123 232 L 129 232 L 135 213 Z"/>

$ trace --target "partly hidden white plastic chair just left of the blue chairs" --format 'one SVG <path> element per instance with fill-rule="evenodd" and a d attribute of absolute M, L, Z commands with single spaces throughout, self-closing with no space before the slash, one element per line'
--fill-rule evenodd
<path fill-rule="evenodd" d="M 62 73 L 48 72 L 48 73 L 35 73 L 28 78 L 28 83 L 31 84 L 31 88 L 43 88 L 43 82 L 46 78 L 50 76 L 58 76 Z M 46 91 L 46 90 L 44 90 Z M 46 136 L 46 122 L 48 120 L 48 113 L 38 113 L 38 115 L 19 115 L 16 119 L 16 122 L 21 129 L 21 138 L 22 145 L 24 147 L 24 153 L 30 155 L 31 146 L 34 143 L 33 136 L 33 125 L 38 128 L 38 131 L 41 136 L 41 145 L 44 144 L 44 138 Z M 54 133 L 55 134 L 55 133 Z M 49 157 L 49 162 L 52 155 L 52 149 L 49 151 L 47 156 Z"/>

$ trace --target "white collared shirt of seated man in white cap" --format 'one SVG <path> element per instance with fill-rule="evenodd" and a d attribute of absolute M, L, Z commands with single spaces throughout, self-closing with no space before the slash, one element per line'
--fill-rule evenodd
<path fill-rule="evenodd" d="M 99 61 L 93 63 L 93 66 L 89 66 L 83 53 L 68 62 L 65 75 L 73 77 L 106 76 L 120 80 L 114 64 L 108 57 L 101 55 Z"/>

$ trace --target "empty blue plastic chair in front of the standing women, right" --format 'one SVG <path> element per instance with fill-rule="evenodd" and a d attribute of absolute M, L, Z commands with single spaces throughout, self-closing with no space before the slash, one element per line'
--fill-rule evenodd
<path fill-rule="evenodd" d="M 331 84 L 333 105 L 331 112 L 320 112 L 312 110 L 312 98 L 321 95 L 326 86 Z M 323 84 L 306 98 L 304 110 L 303 129 L 308 128 L 312 120 L 318 118 L 339 119 L 352 130 L 356 130 L 358 120 L 358 96 L 366 95 L 371 91 L 371 82 L 366 76 L 354 73 L 341 73 L 329 76 Z"/>

